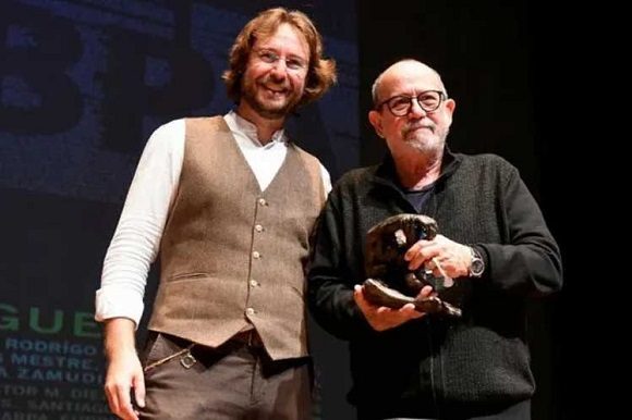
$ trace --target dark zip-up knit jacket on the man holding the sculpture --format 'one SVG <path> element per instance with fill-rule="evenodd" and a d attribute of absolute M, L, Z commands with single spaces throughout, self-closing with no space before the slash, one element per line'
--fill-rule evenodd
<path fill-rule="evenodd" d="M 390 157 L 345 174 L 316 231 L 309 309 L 328 332 L 349 341 L 349 399 L 376 418 L 467 418 L 531 398 L 526 299 L 562 284 L 558 246 L 509 162 L 446 150 L 428 194 L 418 213 L 437 220 L 448 238 L 475 246 L 486 263 L 481 279 L 458 279 L 449 289 L 447 298 L 463 309 L 461 319 L 427 316 L 376 332 L 353 301 L 353 285 L 365 280 L 368 228 L 390 215 L 417 212 Z"/>

